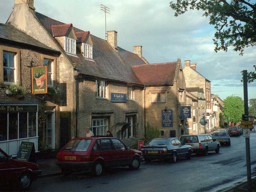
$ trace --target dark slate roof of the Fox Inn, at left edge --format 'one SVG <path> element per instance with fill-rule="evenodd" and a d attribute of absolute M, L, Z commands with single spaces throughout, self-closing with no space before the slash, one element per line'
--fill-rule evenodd
<path fill-rule="evenodd" d="M 48 47 L 47 45 L 32 38 L 31 36 L 27 35 L 23 31 L 20 31 L 11 25 L 6 25 L 2 23 L 0 23 L 0 39 L 14 41 L 17 43 L 27 44 L 34 47 L 40 47 L 43 49 L 59 52 L 58 50 Z"/>

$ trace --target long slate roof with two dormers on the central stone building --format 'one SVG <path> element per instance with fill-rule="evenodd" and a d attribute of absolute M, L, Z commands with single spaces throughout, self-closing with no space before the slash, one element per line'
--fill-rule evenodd
<path fill-rule="evenodd" d="M 35 12 L 35 15 L 41 22 L 42 26 L 52 35 L 51 25 L 64 24 L 38 12 Z M 85 32 L 75 27 L 74 31 L 76 34 L 77 32 Z M 130 51 L 120 47 L 118 47 L 118 50 L 116 51 L 106 40 L 98 38 L 92 34 L 90 34 L 90 37 L 93 41 L 93 61 L 86 59 L 78 49 L 76 49 L 76 56 L 66 54 L 62 49 L 63 54 L 66 54 L 72 62 L 76 63 L 76 68 L 79 73 L 142 85 L 140 79 L 131 69 L 132 65 L 145 64 L 137 54 L 131 53 Z"/>

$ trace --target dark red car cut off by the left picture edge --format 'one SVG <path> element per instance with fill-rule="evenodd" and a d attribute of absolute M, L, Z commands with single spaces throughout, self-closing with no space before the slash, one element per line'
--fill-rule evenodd
<path fill-rule="evenodd" d="M 18 184 L 21 190 L 29 189 L 32 181 L 41 175 L 38 165 L 22 160 L 15 160 L 0 148 L 1 184 Z"/>

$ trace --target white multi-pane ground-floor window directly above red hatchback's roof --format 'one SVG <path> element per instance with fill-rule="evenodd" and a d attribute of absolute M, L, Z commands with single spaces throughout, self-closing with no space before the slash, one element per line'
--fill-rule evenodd
<path fill-rule="evenodd" d="M 108 119 L 102 118 L 102 119 L 93 119 L 92 120 L 92 130 L 93 134 L 96 135 L 106 135 L 106 132 L 108 131 Z"/>

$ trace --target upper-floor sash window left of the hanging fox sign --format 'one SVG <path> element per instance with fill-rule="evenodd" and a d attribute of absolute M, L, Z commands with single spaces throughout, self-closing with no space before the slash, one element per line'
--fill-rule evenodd
<path fill-rule="evenodd" d="M 15 53 L 3 51 L 3 81 L 16 82 Z"/>

